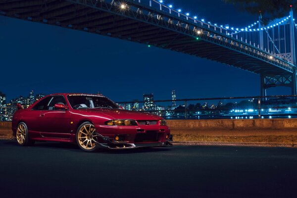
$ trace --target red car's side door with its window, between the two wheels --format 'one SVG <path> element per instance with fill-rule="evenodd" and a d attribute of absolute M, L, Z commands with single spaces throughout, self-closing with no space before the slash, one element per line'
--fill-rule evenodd
<path fill-rule="evenodd" d="M 71 112 L 67 109 L 56 109 L 55 104 L 64 104 L 66 100 L 64 96 L 52 96 L 49 100 L 46 110 L 40 112 L 41 135 L 46 138 L 62 138 L 70 137 L 70 116 Z"/>

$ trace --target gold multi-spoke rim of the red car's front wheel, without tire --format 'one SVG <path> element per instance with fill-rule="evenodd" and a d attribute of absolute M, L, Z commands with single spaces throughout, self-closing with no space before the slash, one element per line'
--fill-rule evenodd
<path fill-rule="evenodd" d="M 86 150 L 91 150 L 96 147 L 96 140 L 94 138 L 97 137 L 95 134 L 95 127 L 93 124 L 85 124 L 78 131 L 78 143 L 80 146 Z"/>

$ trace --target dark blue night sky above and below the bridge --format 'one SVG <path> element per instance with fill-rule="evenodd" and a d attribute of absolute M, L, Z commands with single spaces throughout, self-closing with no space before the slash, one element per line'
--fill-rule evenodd
<path fill-rule="evenodd" d="M 221 0 L 174 0 L 174 8 L 244 28 L 258 16 Z M 0 16 L 0 91 L 97 93 L 115 101 L 258 96 L 259 76 L 232 66 L 120 39 Z M 272 88 L 268 95 L 291 94 Z"/>

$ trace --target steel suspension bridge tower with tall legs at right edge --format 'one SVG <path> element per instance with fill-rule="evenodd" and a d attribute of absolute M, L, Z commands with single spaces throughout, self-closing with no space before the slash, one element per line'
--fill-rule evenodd
<path fill-rule="evenodd" d="M 269 74 L 261 74 L 260 75 L 260 94 L 261 96 L 266 96 L 266 90 L 271 87 L 277 87 L 277 86 L 285 86 L 291 88 L 291 94 L 297 95 L 297 65 L 296 65 L 296 44 L 295 44 L 295 24 L 294 24 L 294 16 L 293 16 L 293 8 L 292 5 L 290 6 L 290 53 L 281 52 L 274 53 L 274 55 L 279 57 L 286 57 L 289 62 L 295 65 L 292 75 L 269 75 Z M 259 30 L 261 30 L 264 26 L 261 24 L 262 15 L 260 13 L 259 15 Z M 280 35 L 279 35 L 280 37 Z M 286 35 L 284 36 L 284 40 L 286 42 Z M 281 38 L 278 39 L 271 39 L 270 42 L 277 42 L 281 40 Z M 269 40 L 267 38 L 267 42 L 269 43 Z M 260 49 L 265 49 L 264 45 L 264 39 L 263 39 L 263 31 L 259 31 L 259 47 Z M 266 49 L 265 49 L 266 50 Z M 269 50 L 269 48 L 268 48 Z M 274 49 L 270 51 L 271 53 L 274 52 Z"/>

